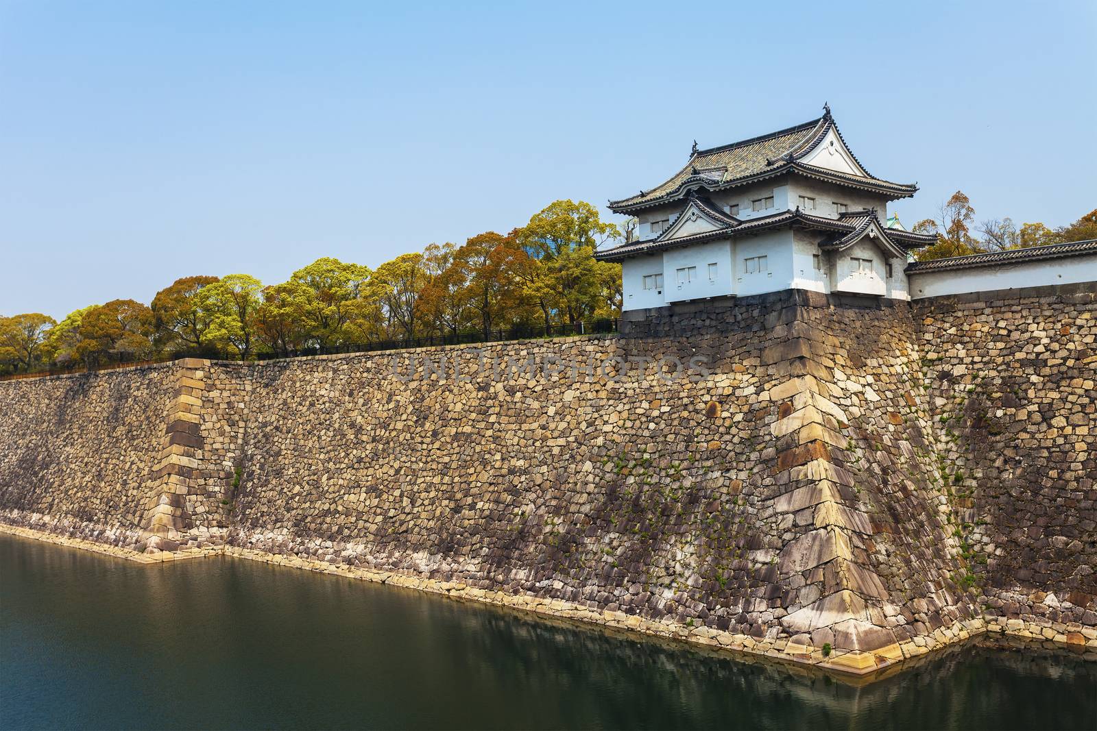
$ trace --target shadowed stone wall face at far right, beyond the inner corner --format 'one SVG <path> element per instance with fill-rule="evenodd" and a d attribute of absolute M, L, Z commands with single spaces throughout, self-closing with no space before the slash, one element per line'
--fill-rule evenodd
<path fill-rule="evenodd" d="M 1094 285 L 916 306 L 938 471 L 988 616 L 1097 624 Z"/>

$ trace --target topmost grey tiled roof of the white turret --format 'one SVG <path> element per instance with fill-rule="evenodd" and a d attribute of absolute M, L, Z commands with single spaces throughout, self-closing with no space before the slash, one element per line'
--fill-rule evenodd
<path fill-rule="evenodd" d="M 827 110 L 822 117 L 794 127 L 731 145 L 694 150 L 686 167 L 670 180 L 649 191 L 642 191 L 638 195 L 611 201 L 609 207 L 619 212 L 633 210 L 675 199 L 691 184 L 700 184 L 706 190 L 719 190 L 792 171 L 812 178 L 894 193 L 898 196 L 914 194 L 917 190 L 914 185 L 891 183 L 872 176 L 848 175 L 798 162 L 800 158 L 815 149 L 832 127 L 837 130 L 834 118 Z"/>

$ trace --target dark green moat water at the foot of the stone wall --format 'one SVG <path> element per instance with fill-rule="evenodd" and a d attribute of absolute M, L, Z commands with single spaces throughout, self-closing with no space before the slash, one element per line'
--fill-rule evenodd
<path fill-rule="evenodd" d="M 864 687 L 227 558 L 0 535 L 0 728 L 1097 728 L 1097 663 L 968 646 Z"/>

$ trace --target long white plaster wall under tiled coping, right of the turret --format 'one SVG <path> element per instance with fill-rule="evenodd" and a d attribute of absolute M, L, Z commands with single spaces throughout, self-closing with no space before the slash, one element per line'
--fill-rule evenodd
<path fill-rule="evenodd" d="M 911 298 L 1097 282 L 1097 254 L 909 275 Z"/>

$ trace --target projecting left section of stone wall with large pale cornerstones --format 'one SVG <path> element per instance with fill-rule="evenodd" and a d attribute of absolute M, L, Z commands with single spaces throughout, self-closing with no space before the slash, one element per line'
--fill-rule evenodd
<path fill-rule="evenodd" d="M 203 423 L 206 375 L 184 359 L 2 384 L 0 521 L 138 551 L 220 542 L 228 482 L 212 462 L 242 430 Z"/>

